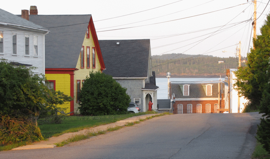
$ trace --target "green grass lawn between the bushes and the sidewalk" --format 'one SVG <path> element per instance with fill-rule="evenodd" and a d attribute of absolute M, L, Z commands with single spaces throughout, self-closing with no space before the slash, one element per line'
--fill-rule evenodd
<path fill-rule="evenodd" d="M 61 124 L 43 124 L 39 125 L 41 134 L 44 138 L 59 136 L 68 132 L 77 132 L 85 128 L 97 127 L 120 121 L 129 117 L 144 114 L 153 114 L 154 112 L 139 112 L 137 114 L 124 115 L 105 115 L 105 116 L 65 116 Z"/>

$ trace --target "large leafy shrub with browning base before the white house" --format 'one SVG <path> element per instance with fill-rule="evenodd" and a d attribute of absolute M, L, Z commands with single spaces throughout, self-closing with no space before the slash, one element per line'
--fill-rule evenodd
<path fill-rule="evenodd" d="M 37 123 L 39 112 L 44 117 L 72 99 L 63 92 L 51 92 L 44 81 L 44 76 L 34 75 L 26 67 L 0 60 L 0 144 L 43 139 Z"/>

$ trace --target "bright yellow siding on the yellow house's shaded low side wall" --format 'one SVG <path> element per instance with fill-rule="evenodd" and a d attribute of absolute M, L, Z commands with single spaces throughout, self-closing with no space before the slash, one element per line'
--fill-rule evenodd
<path fill-rule="evenodd" d="M 70 75 L 69 74 L 45 74 L 47 80 L 55 80 L 55 91 L 64 92 L 64 94 L 70 96 Z M 61 108 L 65 108 L 65 113 L 70 112 L 70 102 L 65 102 L 59 105 Z"/>

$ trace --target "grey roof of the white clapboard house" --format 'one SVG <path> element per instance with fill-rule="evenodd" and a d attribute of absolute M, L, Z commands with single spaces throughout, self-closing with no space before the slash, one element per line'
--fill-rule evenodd
<path fill-rule="evenodd" d="M 37 25 L 31 21 L 23 19 L 17 15 L 11 14 L 3 9 L 0 9 L 0 25 L 9 25 L 13 27 L 23 27 L 23 28 L 35 28 L 41 31 L 48 32 L 48 29 Z"/>

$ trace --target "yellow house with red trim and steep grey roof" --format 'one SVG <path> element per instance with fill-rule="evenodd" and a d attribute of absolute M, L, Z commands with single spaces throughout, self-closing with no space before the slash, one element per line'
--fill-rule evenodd
<path fill-rule="evenodd" d="M 29 21 L 49 29 L 43 46 L 45 77 L 51 88 L 73 97 L 61 105 L 65 113 L 78 114 L 83 80 L 105 69 L 92 15 L 29 15 Z"/>

